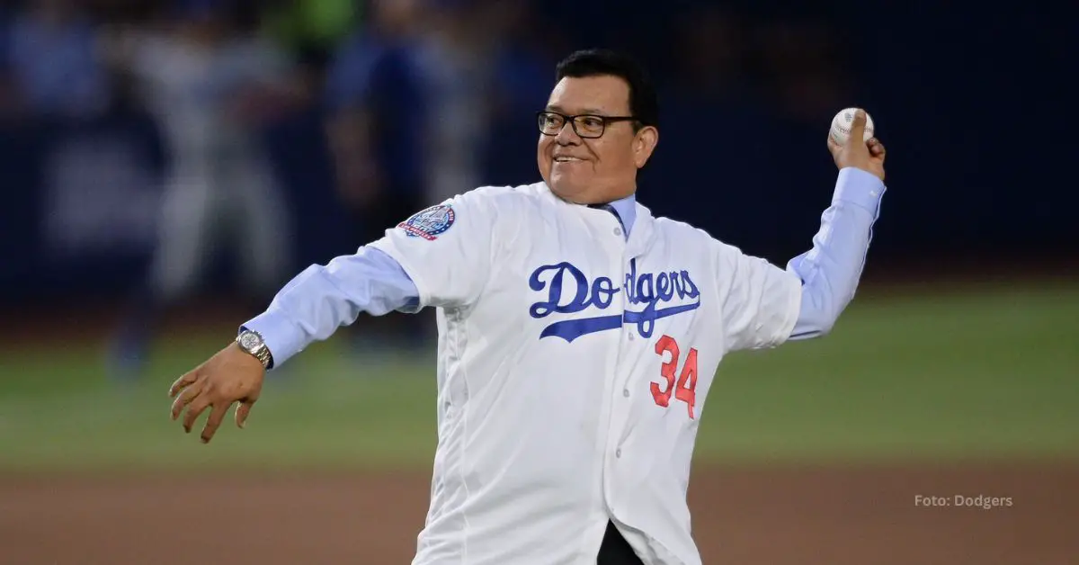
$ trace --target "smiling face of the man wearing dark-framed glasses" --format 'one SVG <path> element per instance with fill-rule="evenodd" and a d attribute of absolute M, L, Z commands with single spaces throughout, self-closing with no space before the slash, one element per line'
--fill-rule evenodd
<path fill-rule="evenodd" d="M 546 109 L 565 116 L 630 116 L 629 84 L 613 76 L 566 77 L 555 85 Z M 540 134 L 536 161 L 544 181 L 562 199 L 610 202 L 637 190 L 637 170 L 656 140 L 654 127 L 634 133 L 632 121 L 609 122 L 602 136 L 582 137 L 568 120 L 556 135 Z"/>

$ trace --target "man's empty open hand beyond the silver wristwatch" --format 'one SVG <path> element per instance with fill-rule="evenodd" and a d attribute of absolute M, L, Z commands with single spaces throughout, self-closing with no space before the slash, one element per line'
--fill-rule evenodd
<path fill-rule="evenodd" d="M 199 415 L 209 407 L 209 418 L 202 431 L 203 443 L 209 443 L 229 407 L 238 402 L 236 426 L 243 428 L 251 406 L 262 392 L 263 378 L 265 368 L 262 363 L 241 349 L 240 345 L 232 344 L 173 382 L 168 389 L 168 396 L 176 398 L 173 402 L 173 420 L 187 407 L 183 430 L 191 433 Z"/>

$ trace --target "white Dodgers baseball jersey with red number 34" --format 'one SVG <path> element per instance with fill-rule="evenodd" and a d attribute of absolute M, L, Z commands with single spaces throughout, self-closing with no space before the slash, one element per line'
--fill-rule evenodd
<path fill-rule="evenodd" d="M 686 488 L 723 355 L 774 347 L 797 275 L 637 206 L 480 188 L 372 243 L 438 307 L 438 448 L 418 565 L 589 564 L 609 519 L 698 564 Z"/>

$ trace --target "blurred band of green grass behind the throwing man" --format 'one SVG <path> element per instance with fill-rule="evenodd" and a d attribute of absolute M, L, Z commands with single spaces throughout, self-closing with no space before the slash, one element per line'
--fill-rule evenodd
<path fill-rule="evenodd" d="M 825 339 L 724 360 L 697 460 L 1075 457 L 1076 320 L 1076 288 L 860 297 Z M 429 468 L 433 354 L 360 364 L 315 345 L 246 430 L 227 420 L 205 446 L 169 421 L 166 390 L 220 345 L 165 336 L 129 389 L 93 345 L 0 353 L 0 470 Z"/>

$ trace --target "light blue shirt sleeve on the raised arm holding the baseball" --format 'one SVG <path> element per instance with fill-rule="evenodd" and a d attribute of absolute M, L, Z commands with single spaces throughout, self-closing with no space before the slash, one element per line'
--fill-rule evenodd
<path fill-rule="evenodd" d="M 884 183 L 872 173 L 853 167 L 839 171 L 832 205 L 821 215 L 812 248 L 787 265 L 787 270 L 802 279 L 802 308 L 790 339 L 829 333 L 853 299 L 884 192 Z"/>

